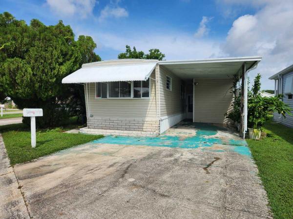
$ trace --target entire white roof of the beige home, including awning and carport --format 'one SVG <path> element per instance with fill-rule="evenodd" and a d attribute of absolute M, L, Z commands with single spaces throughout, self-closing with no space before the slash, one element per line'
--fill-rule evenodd
<path fill-rule="evenodd" d="M 157 64 L 182 79 L 228 78 L 238 73 L 243 63 L 246 63 L 246 70 L 249 70 L 260 60 L 261 57 L 258 56 L 173 61 L 108 60 L 84 64 L 83 68 L 64 77 L 62 83 L 147 80 Z M 120 64 L 117 65 L 117 62 Z"/>

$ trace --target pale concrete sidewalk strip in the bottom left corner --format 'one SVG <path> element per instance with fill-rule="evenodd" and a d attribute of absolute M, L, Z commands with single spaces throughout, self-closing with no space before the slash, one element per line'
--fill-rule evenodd
<path fill-rule="evenodd" d="M 0 218 L 29 219 L 19 184 L 15 177 L 0 134 Z"/>

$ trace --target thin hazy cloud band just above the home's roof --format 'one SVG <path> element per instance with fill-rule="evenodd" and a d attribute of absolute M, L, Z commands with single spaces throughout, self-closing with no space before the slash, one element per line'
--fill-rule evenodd
<path fill-rule="evenodd" d="M 125 51 L 125 46 L 135 46 L 137 50 L 148 52 L 149 49 L 160 49 L 166 59 L 202 59 L 224 56 L 220 49 L 220 43 L 213 40 L 197 39 L 180 32 L 161 33 L 148 32 L 133 35 L 118 35 L 117 33 L 94 32 L 80 30 L 78 35 L 92 36 L 98 45 L 98 51 L 115 50 L 117 55 Z M 98 52 L 99 53 L 99 52 Z M 103 57 L 102 57 L 103 58 Z M 115 57 L 114 57 L 115 58 Z"/>

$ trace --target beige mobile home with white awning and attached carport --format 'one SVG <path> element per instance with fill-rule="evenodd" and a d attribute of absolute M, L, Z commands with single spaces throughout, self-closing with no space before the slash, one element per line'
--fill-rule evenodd
<path fill-rule="evenodd" d="M 231 107 L 234 75 L 246 81 L 247 93 L 246 75 L 260 60 L 118 59 L 84 64 L 62 82 L 84 85 L 87 127 L 82 132 L 156 136 L 183 119 L 229 123 L 224 114 Z M 243 100 L 245 133 L 247 95 Z"/>

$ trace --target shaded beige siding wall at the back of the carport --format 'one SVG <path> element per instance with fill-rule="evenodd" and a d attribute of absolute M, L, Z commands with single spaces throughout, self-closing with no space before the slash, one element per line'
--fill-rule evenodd
<path fill-rule="evenodd" d="M 194 79 L 194 122 L 227 123 L 232 102 L 231 79 Z"/>

